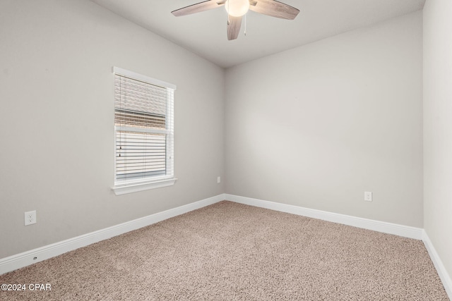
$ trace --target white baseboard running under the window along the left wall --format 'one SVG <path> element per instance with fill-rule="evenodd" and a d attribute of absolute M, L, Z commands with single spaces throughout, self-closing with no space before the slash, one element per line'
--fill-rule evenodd
<path fill-rule="evenodd" d="M 63 240 L 61 242 L 53 243 L 52 245 L 46 245 L 44 247 L 38 247 L 37 249 L 16 254 L 10 257 L 0 259 L 0 275 L 7 273 L 8 271 L 14 271 L 30 264 L 42 262 L 42 260 L 55 257 L 66 252 L 76 250 L 79 247 L 85 247 L 101 240 L 106 240 L 114 236 L 149 226 L 153 223 L 163 221 L 165 219 L 184 214 L 195 209 L 206 207 L 210 204 L 225 199 L 225 195 L 217 195 L 215 197 L 209 197 L 198 202 L 186 204 L 181 207 L 162 211 L 157 214 L 151 214 L 150 216 L 142 217 L 141 219 L 135 219 L 133 221 L 127 221 L 116 226 L 105 228 L 99 231 L 91 232 L 85 235 L 77 236 L 76 238 L 70 238 L 69 240 Z"/>

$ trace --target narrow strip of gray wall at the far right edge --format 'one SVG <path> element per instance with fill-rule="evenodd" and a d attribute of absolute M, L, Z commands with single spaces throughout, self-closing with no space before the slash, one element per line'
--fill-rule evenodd
<path fill-rule="evenodd" d="M 450 0 L 425 3 L 424 228 L 449 277 L 452 276 L 451 14 Z"/>

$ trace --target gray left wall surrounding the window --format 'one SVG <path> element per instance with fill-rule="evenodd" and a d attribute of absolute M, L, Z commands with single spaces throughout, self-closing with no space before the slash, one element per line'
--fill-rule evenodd
<path fill-rule="evenodd" d="M 91 1 L 1 1 L 0 41 L 0 258 L 224 192 L 222 68 Z M 112 66 L 177 85 L 174 186 L 110 190 Z"/>

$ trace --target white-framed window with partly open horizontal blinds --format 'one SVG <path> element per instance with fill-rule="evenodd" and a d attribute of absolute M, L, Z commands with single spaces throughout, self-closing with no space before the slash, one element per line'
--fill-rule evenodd
<path fill-rule="evenodd" d="M 174 185 L 176 86 L 114 67 L 114 192 Z"/>

